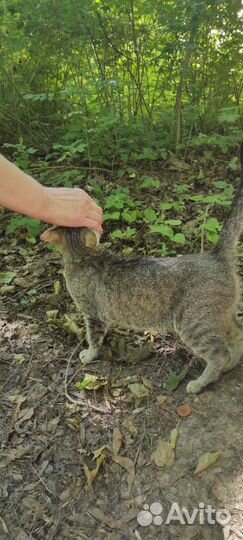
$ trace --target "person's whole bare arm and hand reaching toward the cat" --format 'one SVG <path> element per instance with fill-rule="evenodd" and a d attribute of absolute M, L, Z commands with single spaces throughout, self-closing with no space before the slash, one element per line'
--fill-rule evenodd
<path fill-rule="evenodd" d="M 102 233 L 102 209 L 83 189 L 42 186 L 1 155 L 0 206 L 52 225 Z"/>

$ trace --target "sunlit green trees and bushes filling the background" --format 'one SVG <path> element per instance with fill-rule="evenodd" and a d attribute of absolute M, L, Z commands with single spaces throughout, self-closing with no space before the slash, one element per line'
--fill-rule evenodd
<path fill-rule="evenodd" d="M 0 9 L 1 142 L 24 168 L 32 150 L 88 166 L 165 160 L 178 127 L 178 149 L 226 152 L 242 136 L 240 0 Z"/>

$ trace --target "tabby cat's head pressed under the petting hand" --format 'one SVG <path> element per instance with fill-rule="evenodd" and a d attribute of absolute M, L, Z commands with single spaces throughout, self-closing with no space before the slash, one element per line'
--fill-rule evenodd
<path fill-rule="evenodd" d="M 97 248 L 100 234 L 86 227 L 51 227 L 44 231 L 40 238 L 44 242 L 57 244 L 63 251 L 80 253 L 85 248 Z"/>

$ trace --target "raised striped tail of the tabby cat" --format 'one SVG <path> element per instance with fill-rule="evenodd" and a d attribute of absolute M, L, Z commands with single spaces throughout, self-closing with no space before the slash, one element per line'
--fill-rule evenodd
<path fill-rule="evenodd" d="M 243 143 L 240 146 L 240 167 L 240 183 L 214 250 L 215 253 L 222 253 L 229 257 L 233 255 L 243 231 Z"/>

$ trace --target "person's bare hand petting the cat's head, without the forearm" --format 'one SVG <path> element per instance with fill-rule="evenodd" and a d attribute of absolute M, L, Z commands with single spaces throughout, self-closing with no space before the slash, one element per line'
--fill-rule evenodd
<path fill-rule="evenodd" d="M 103 213 L 79 188 L 45 187 L 47 206 L 43 221 L 63 227 L 89 227 L 102 233 Z"/>

